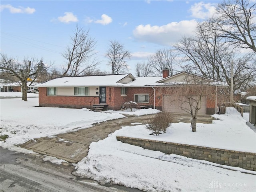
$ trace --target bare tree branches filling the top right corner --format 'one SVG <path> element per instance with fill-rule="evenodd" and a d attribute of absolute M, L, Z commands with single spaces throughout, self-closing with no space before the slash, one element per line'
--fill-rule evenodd
<path fill-rule="evenodd" d="M 256 3 L 249 0 L 228 0 L 219 4 L 212 27 L 219 37 L 240 48 L 256 52 Z"/>

